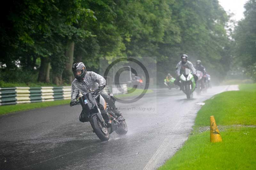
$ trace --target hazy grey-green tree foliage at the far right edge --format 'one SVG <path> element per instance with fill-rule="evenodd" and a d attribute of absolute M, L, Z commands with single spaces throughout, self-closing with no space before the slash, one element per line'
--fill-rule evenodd
<path fill-rule="evenodd" d="M 245 5 L 244 19 L 239 21 L 234 32 L 234 58 L 238 66 L 256 81 L 256 1 L 249 0 Z"/>

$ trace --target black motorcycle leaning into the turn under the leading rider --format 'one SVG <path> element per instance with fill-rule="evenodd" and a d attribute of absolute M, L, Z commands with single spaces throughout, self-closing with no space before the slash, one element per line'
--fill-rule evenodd
<path fill-rule="evenodd" d="M 89 90 L 88 93 L 79 100 L 83 110 L 79 116 L 81 122 L 90 121 L 93 132 L 101 141 L 108 141 L 109 134 L 116 132 L 118 135 L 125 135 L 128 131 L 124 117 L 116 116 L 104 98 L 100 95 L 102 90 Z M 111 95 L 111 94 L 110 94 Z"/>

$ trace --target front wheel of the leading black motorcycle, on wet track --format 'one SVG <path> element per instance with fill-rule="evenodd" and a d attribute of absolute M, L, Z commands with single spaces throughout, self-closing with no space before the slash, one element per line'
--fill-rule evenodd
<path fill-rule="evenodd" d="M 109 140 L 108 128 L 104 127 L 103 122 L 100 121 L 97 115 L 94 115 L 90 118 L 90 123 L 93 131 L 101 141 Z"/>

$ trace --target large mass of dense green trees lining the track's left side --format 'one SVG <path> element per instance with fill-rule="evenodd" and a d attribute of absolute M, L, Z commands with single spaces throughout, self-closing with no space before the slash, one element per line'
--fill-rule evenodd
<path fill-rule="evenodd" d="M 117 56 L 156 56 L 150 62 L 159 81 L 174 74 L 183 53 L 218 77 L 229 69 L 228 16 L 218 0 L 23 0 L 8 2 L 2 15 L 0 79 L 6 82 L 70 83 L 73 62 L 97 71 L 99 59 Z M 10 72 L 14 77 L 5 76 Z M 17 72 L 34 76 L 19 80 Z"/>

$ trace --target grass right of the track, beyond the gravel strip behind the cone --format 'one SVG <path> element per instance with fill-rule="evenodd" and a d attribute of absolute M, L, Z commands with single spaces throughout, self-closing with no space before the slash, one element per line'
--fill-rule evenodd
<path fill-rule="evenodd" d="M 256 125 L 256 92 L 250 90 L 253 86 L 256 88 L 249 84 L 247 89 L 223 92 L 206 100 L 197 113 L 195 125 L 208 126 L 212 115 L 218 125 Z"/>

